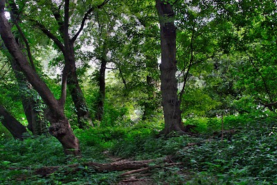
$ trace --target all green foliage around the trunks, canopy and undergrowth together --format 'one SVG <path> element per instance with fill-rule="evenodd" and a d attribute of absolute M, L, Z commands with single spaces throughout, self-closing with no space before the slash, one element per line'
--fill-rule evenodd
<path fill-rule="evenodd" d="M 62 8 L 63 1 L 15 2 L 39 76 L 59 98 L 64 58 L 50 39 L 34 29 L 30 18 L 43 22 L 61 41 L 52 11 Z M 111 0 L 96 8 L 100 3 L 70 3 L 70 36 L 77 33 L 87 8 L 95 8 L 74 45 L 80 86 L 92 115 L 100 97 L 98 70 L 103 58 L 107 60 L 101 122 L 78 129 L 76 108 L 66 97 L 64 112 L 80 139 L 82 159 L 64 158 L 62 146 L 51 137 L 26 135 L 24 141 L 14 141 L 0 126 L 0 183 L 117 184 L 119 173 L 96 173 L 87 166 L 66 173 L 66 164 L 169 155 L 183 165 L 150 170 L 156 184 L 276 184 L 276 2 L 163 1 L 175 10 L 181 118 L 185 125 L 197 126 L 193 136 L 159 135 L 164 126 L 163 89 L 154 1 Z M 20 95 L 41 99 L 33 90 L 19 91 L 4 55 L 0 55 L 0 103 L 27 125 Z M 234 133 L 228 134 L 230 130 Z M 64 168 L 47 177 L 33 175 L 33 169 L 41 166 Z"/>

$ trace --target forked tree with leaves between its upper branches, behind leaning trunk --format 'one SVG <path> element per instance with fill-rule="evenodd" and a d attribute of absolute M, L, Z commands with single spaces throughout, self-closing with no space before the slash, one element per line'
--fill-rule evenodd
<path fill-rule="evenodd" d="M 47 37 L 53 40 L 57 48 L 60 49 L 62 55 L 64 56 L 64 63 L 67 66 L 66 69 L 68 73 L 67 83 L 73 103 L 75 105 L 76 113 L 78 116 L 78 126 L 80 128 L 84 128 L 87 125 L 93 124 L 91 122 L 89 108 L 87 107 L 87 103 L 85 102 L 84 94 L 80 87 L 78 74 L 76 72 L 75 41 L 76 39 L 78 39 L 78 36 L 82 32 L 85 23 L 87 19 L 89 19 L 89 17 L 91 16 L 93 10 L 102 8 L 102 6 L 108 3 L 108 1 L 109 0 L 103 1 L 98 6 L 91 6 L 91 4 L 84 2 L 70 3 L 69 0 L 65 1 L 64 5 L 62 3 L 53 3 L 52 1 L 38 1 L 36 3 L 38 9 L 43 10 L 36 12 L 37 14 L 40 14 L 40 16 L 37 17 L 37 19 L 33 19 L 33 17 L 30 16 L 28 17 L 28 20 L 31 21 L 31 23 L 35 27 L 39 28 L 39 30 L 41 30 Z M 72 16 L 71 13 L 73 13 L 73 11 L 70 10 L 70 5 L 75 7 L 86 6 L 86 8 L 76 8 L 76 10 L 82 10 L 81 12 L 83 12 L 83 10 L 87 10 L 86 12 L 84 12 L 83 17 L 81 17 L 80 15 Z M 64 6 L 64 12 L 61 10 L 62 6 Z M 51 12 L 50 15 L 49 12 Z M 63 13 L 64 17 L 62 16 Z M 47 16 L 45 17 L 45 15 L 43 14 L 46 14 Z M 55 19 L 55 22 L 51 19 L 51 17 Z M 52 22 L 49 23 L 48 18 L 50 18 Z M 69 21 L 80 22 L 80 25 L 74 24 L 73 28 L 70 28 Z M 44 25 L 44 22 L 55 25 L 53 26 L 53 30 L 47 28 L 47 26 Z M 78 26 L 80 26 L 80 28 L 78 28 L 75 35 L 72 34 L 73 37 L 70 37 L 70 30 L 75 30 Z"/>

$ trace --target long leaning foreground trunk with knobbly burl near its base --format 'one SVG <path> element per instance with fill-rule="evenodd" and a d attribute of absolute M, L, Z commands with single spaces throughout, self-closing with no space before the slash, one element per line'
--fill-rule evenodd
<path fill-rule="evenodd" d="M 10 24 L 5 16 L 5 0 L 0 0 L 0 34 L 6 48 L 19 65 L 21 71 L 24 72 L 27 80 L 33 85 L 34 89 L 44 100 L 51 112 L 50 133 L 55 136 L 64 148 L 65 154 L 80 155 L 79 141 L 73 134 L 73 130 L 69 125 L 69 121 L 64 115 L 64 107 L 59 100 L 56 100 L 51 90 L 45 82 L 39 78 L 37 73 L 30 67 L 26 56 L 20 51 L 15 37 L 10 30 Z"/>

